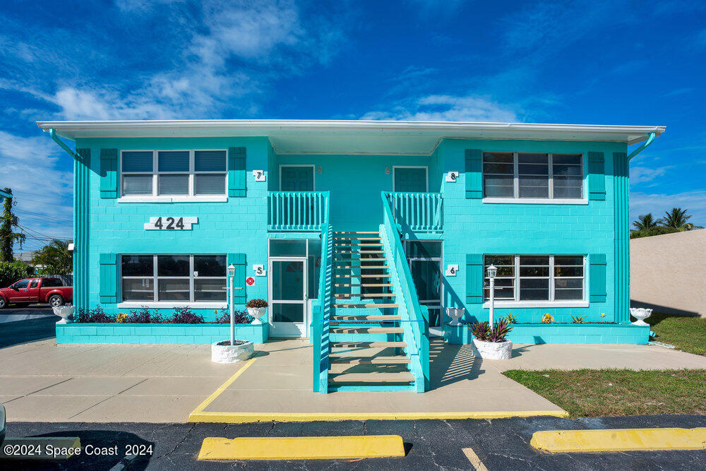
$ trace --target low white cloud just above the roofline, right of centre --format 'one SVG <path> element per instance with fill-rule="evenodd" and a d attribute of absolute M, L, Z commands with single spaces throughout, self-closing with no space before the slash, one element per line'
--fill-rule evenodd
<path fill-rule="evenodd" d="M 371 111 L 360 119 L 402 121 L 491 121 L 517 122 L 517 113 L 508 105 L 487 97 L 428 95 L 407 106 L 393 107 L 389 112 Z"/>

